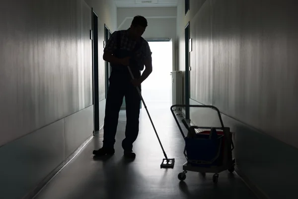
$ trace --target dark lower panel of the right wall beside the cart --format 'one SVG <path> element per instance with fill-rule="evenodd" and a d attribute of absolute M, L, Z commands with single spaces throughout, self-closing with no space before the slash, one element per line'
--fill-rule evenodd
<path fill-rule="evenodd" d="M 269 199 L 297 196 L 298 149 L 270 135 L 223 115 L 234 134 L 237 168 L 240 174 Z"/>

